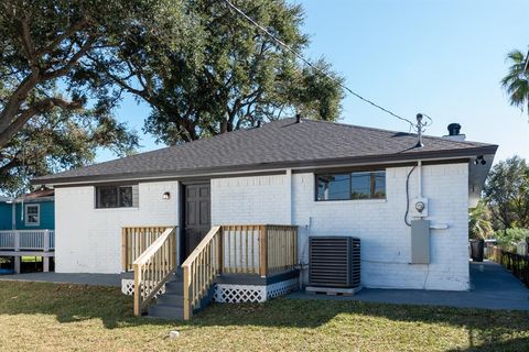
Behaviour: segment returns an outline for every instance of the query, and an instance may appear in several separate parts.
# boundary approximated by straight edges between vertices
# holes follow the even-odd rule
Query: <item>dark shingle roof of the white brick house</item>
[[[284,119],[191,143],[39,177],[34,184],[75,183],[219,170],[295,167],[323,162],[406,161],[417,157],[469,156],[496,151],[493,144],[424,136],[357,125]]]

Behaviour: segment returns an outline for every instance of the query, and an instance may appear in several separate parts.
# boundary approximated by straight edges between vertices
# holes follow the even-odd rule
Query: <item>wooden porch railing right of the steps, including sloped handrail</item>
[[[184,319],[206,295],[215,276],[292,270],[298,264],[298,227],[242,224],[214,227],[182,264]]]

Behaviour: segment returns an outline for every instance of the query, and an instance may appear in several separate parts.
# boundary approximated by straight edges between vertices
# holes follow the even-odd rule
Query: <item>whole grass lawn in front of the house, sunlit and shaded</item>
[[[0,280],[0,297],[2,351],[529,351],[527,312],[276,299],[179,323],[133,317],[118,288]]]

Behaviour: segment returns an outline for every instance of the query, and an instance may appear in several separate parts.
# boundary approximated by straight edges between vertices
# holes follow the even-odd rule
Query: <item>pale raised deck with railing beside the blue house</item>
[[[0,256],[14,257],[14,271],[20,273],[22,256],[42,256],[43,271],[50,271],[50,257],[55,256],[54,230],[2,230]]]

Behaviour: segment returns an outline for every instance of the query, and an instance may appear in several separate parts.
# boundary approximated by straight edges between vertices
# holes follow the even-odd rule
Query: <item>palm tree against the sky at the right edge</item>
[[[510,105],[520,108],[527,106],[529,113],[529,52],[523,55],[522,52],[514,50],[507,54],[507,59],[511,63],[509,73],[501,79],[501,86],[509,95]]]

